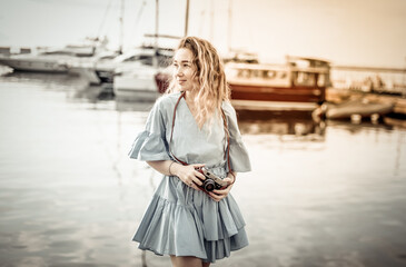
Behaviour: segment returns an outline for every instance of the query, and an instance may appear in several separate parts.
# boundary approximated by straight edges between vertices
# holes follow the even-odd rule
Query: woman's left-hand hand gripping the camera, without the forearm
[[[174,169],[172,174],[176,175],[177,177],[179,177],[179,179],[182,182],[185,182],[187,186],[189,186],[196,190],[200,190],[200,188],[197,186],[201,186],[202,180],[205,180],[206,177],[196,169],[201,168],[204,166],[205,165],[202,165],[202,164],[186,165],[186,166],[175,164],[172,166],[172,169]]]

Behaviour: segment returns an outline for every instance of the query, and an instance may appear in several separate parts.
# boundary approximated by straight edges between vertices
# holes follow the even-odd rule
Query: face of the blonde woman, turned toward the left
[[[181,91],[190,91],[197,83],[194,55],[187,48],[179,49],[174,58],[175,78]]]

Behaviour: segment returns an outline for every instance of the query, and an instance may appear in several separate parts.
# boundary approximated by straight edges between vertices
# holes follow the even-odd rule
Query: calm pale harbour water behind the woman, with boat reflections
[[[151,103],[99,92],[0,78],[0,266],[169,266],[131,241],[160,179],[127,157]],[[405,129],[239,116],[254,170],[232,192],[250,246],[217,266],[406,265]]]

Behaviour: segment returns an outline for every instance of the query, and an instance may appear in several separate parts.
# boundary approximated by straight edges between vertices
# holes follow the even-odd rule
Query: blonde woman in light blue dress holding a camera
[[[157,100],[129,152],[165,175],[132,240],[140,249],[170,255],[176,267],[209,266],[248,245],[229,191],[250,162],[216,49],[186,37],[172,67],[169,93]],[[202,190],[201,167],[227,186]]]

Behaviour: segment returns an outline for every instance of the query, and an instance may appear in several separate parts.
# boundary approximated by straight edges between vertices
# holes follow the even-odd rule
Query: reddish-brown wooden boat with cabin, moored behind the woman
[[[313,110],[325,101],[329,62],[287,57],[285,65],[227,63],[231,99],[239,109]]]

